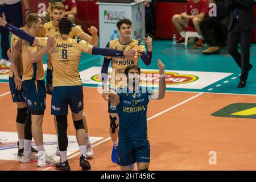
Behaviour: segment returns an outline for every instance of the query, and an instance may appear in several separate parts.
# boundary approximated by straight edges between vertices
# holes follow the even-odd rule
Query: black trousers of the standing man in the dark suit
[[[250,64],[250,40],[252,30],[242,30],[238,21],[234,20],[232,28],[228,32],[228,52],[241,68],[240,80],[246,81]],[[238,43],[241,45],[241,53],[237,50]]]

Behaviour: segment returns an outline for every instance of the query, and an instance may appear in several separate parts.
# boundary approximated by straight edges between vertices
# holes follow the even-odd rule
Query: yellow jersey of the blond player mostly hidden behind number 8
[[[75,36],[80,36],[82,34],[82,29],[76,24],[72,24],[71,32],[69,33],[69,38],[75,38]],[[59,38],[59,27],[55,26],[52,22],[45,23],[42,31],[40,32],[40,37],[49,37],[55,36],[55,38]],[[52,69],[51,59],[48,56],[48,64],[47,69]]]

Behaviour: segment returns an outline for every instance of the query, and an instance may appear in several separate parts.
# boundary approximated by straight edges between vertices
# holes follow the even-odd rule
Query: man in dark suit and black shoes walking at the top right
[[[246,86],[248,73],[253,65],[250,64],[251,32],[255,25],[253,15],[253,0],[225,0],[225,6],[232,6],[228,26],[228,52],[241,68],[238,88]],[[241,53],[238,52],[241,44]]]

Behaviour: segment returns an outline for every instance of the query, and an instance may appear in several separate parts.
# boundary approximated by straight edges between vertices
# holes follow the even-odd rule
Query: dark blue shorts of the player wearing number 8
[[[84,109],[82,85],[55,86],[52,90],[52,115],[68,114],[68,105],[73,113]]]

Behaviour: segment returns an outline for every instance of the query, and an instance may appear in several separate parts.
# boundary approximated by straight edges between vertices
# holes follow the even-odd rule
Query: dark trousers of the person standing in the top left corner
[[[0,5],[0,16],[2,17],[2,13],[5,13],[6,22],[13,24],[15,27],[23,26],[23,18],[22,18],[22,3],[18,2],[13,5]],[[1,49],[2,49],[2,58],[9,60],[7,56],[7,51],[10,48],[9,43],[9,31],[5,29],[5,27],[0,26],[1,33]]]

